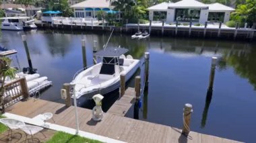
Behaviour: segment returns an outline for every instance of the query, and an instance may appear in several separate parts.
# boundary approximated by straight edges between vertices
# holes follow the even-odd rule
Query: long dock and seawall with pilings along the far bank
[[[255,40],[256,30],[251,28],[228,28],[222,26],[220,23],[206,23],[204,26],[192,26],[191,24],[168,24],[164,22],[150,22],[146,24],[141,23],[127,23],[122,27],[116,26],[100,26],[92,23],[75,23],[62,22],[62,23],[42,23],[36,22],[38,28],[54,29],[54,30],[79,30],[79,31],[112,31],[124,34],[134,34],[138,30],[148,30],[151,35],[157,36],[181,36],[181,37],[200,37],[200,38],[224,38],[230,40]]]

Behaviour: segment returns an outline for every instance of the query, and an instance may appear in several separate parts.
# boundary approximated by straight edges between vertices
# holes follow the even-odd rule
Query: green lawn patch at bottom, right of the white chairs
[[[98,140],[90,140],[77,135],[67,134],[65,132],[56,132],[53,138],[46,143],[101,143]]]

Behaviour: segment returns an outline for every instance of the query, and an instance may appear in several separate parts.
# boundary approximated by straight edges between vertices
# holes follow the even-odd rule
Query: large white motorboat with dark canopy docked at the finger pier
[[[125,75],[128,81],[139,67],[139,60],[131,55],[127,58],[123,54],[128,52],[125,48],[105,48],[96,52],[102,62],[75,74],[75,96],[92,98],[98,93],[104,95],[120,87],[120,75]]]

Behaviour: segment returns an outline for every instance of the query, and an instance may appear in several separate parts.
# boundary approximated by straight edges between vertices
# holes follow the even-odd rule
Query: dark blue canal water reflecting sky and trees
[[[41,76],[53,81],[53,87],[40,98],[60,103],[63,103],[60,95],[63,83],[69,83],[82,68],[81,40],[86,40],[86,56],[91,65],[94,40],[99,50],[109,36],[98,32],[2,31],[1,46],[18,50],[18,55],[12,56],[13,65],[21,68],[28,66],[22,34],[27,36],[33,66]],[[150,52],[150,83],[141,97],[139,120],[182,128],[183,106],[191,103],[191,130],[243,142],[254,141],[255,43],[172,37],[132,40],[130,36],[114,34],[107,47],[119,45],[128,48],[134,58]],[[219,60],[214,91],[207,97],[212,56]],[[139,70],[136,74],[139,75]],[[129,83],[133,85],[134,79]],[[104,111],[118,96],[117,91],[105,97]],[[84,107],[92,108],[93,102],[88,101]],[[127,117],[133,117],[133,107]]]

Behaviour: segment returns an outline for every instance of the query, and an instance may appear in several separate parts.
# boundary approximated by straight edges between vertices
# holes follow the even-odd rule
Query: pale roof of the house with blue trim
[[[86,0],[82,1],[81,3],[76,3],[71,7],[74,8],[84,8],[84,7],[110,7],[110,0]]]

